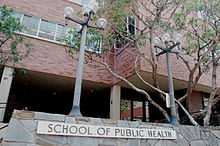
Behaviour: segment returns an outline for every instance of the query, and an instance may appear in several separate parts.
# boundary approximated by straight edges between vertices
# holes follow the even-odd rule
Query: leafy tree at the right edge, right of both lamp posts
[[[189,70],[189,82],[187,92],[180,100],[188,99],[204,72],[212,70],[212,89],[208,107],[199,113],[204,118],[204,126],[210,124],[212,106],[219,101],[218,96],[216,97],[216,93],[219,90],[216,83],[216,72],[220,59],[219,8],[219,0],[195,0],[184,3],[181,11],[176,13],[176,27],[183,30],[182,33],[185,34],[185,39],[187,40],[187,45],[185,45],[187,55],[196,60],[191,67],[189,62],[181,57]]]

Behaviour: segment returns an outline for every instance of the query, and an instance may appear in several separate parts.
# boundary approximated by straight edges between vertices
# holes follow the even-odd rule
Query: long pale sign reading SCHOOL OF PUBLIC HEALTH
[[[126,128],[38,121],[37,134],[103,138],[176,139],[170,128]]]

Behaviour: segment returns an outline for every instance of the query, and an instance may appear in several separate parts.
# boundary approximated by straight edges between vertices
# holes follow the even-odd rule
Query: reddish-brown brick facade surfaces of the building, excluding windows
[[[1,0],[1,5],[6,4],[16,11],[21,11],[33,16],[44,18],[50,21],[64,24],[63,9],[66,6],[74,7],[79,10],[79,5],[76,5],[69,0]],[[46,72],[67,77],[74,77],[76,69],[76,60],[72,59],[65,51],[65,47],[54,43],[30,39],[33,44],[33,50],[30,56],[22,61],[23,67],[33,71]],[[134,71],[135,53],[132,54],[132,48],[128,51],[118,51],[117,55],[111,55],[105,59],[115,64],[116,71],[126,77],[132,76]],[[147,49],[144,51],[149,55]],[[77,53],[75,54],[75,57]],[[110,60],[109,60],[110,59]],[[188,72],[181,60],[172,56],[173,76],[176,80],[187,81]],[[150,64],[146,61],[141,61],[141,70],[151,72]],[[167,76],[165,55],[159,59],[158,74]],[[85,65],[84,79],[99,83],[115,84],[118,80],[113,81],[113,77],[99,64],[92,63]],[[202,76],[200,83],[205,86],[210,86],[210,75]]]

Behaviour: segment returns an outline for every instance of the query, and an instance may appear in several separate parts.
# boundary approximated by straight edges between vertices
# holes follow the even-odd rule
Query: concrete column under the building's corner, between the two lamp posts
[[[110,119],[120,120],[120,98],[121,98],[121,87],[115,85],[111,88],[110,97]]]

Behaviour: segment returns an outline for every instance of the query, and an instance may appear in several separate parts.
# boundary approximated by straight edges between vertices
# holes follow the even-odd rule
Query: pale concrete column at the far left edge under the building
[[[4,119],[5,109],[13,79],[13,72],[13,68],[5,67],[2,74],[0,83],[0,122],[2,122]]]

